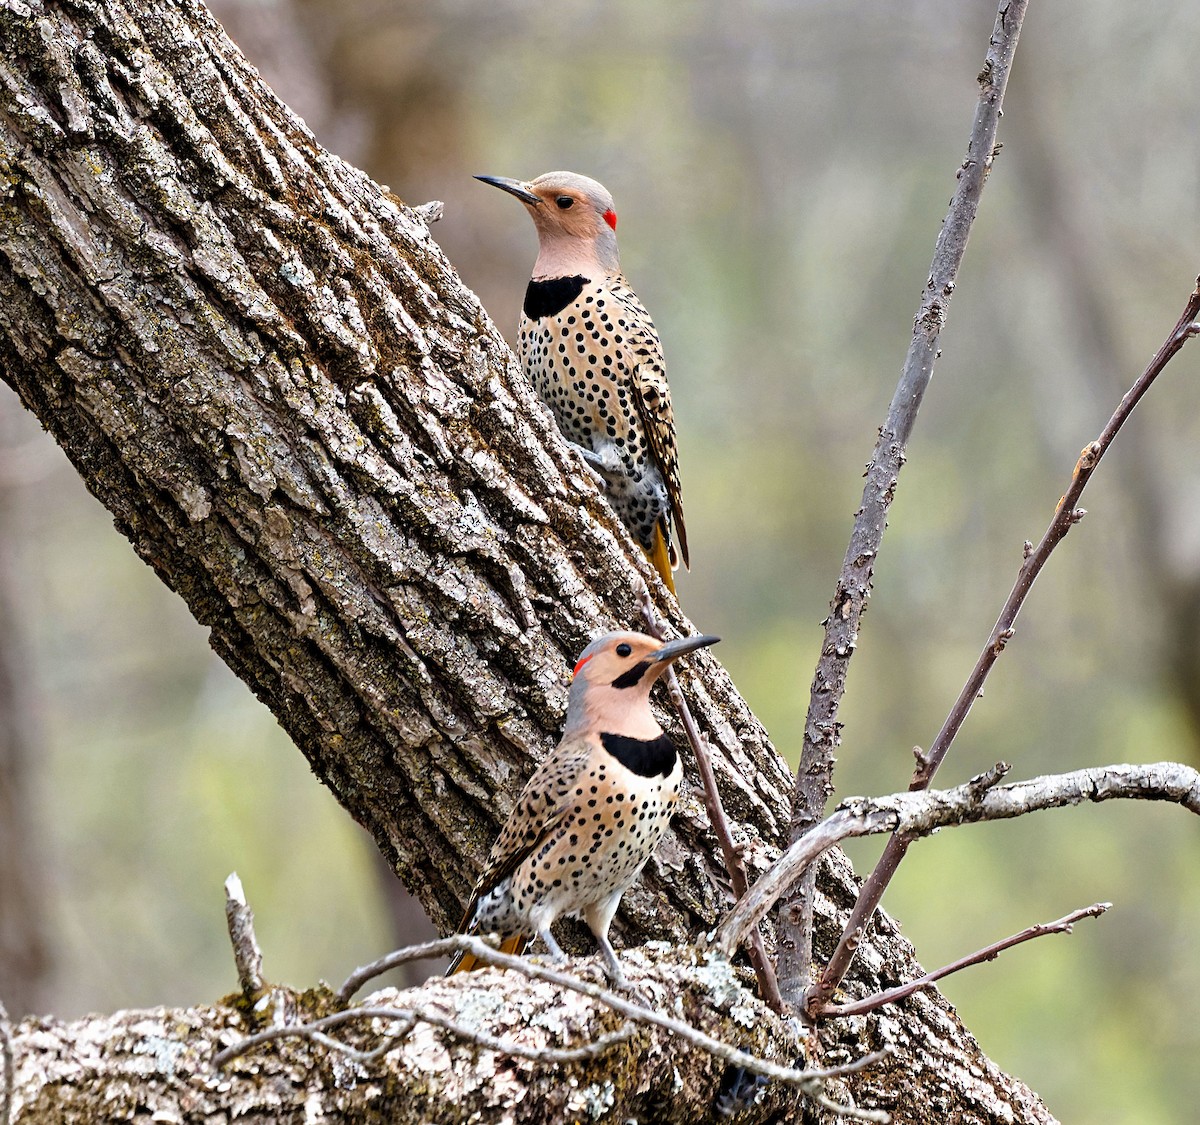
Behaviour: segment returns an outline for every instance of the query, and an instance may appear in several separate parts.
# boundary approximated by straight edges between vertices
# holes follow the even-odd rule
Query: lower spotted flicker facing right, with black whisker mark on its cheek
[[[608,633],[583,650],[562,741],[517,798],[461,932],[499,933],[500,947],[517,953],[538,936],[562,959],[550,927],[582,915],[608,976],[624,982],[608,925],[666,831],[683,776],[674,744],[650,711],[650,688],[672,661],[719,639]],[[446,975],[474,965],[460,955]]]

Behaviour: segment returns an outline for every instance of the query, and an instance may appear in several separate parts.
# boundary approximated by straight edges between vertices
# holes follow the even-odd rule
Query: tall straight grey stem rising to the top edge
[[[905,445],[934,374],[934,363],[940,354],[938,339],[966,252],[967,236],[988,173],[998,151],[996,131],[1026,2],[1027,0],[1000,2],[986,60],[979,74],[979,101],[966,160],[959,169],[954,197],[934,247],[929,279],[913,324],[904,371],[866,468],[863,503],[854,517],[830,613],[826,619],[821,657],[812,678],[800,764],[792,798],[790,844],[821,819],[833,792],[834,751],[840,741],[838,711],[846,691],[850,658],[858,642],[859,620],[870,596],[875,559],[904,465]],[[781,987],[785,998],[793,1004],[800,1000],[809,983],[812,898],[814,883],[809,879],[800,885],[791,902],[782,904],[779,915],[776,932]]]

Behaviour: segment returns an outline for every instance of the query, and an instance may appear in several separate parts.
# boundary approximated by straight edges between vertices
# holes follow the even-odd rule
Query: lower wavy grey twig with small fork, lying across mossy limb
[[[341,1040],[320,1034],[329,1028],[338,1027],[340,1024],[349,1023],[356,1019],[390,1019],[398,1023],[403,1030],[389,1033],[385,1036],[385,1042],[382,1045],[382,1049],[376,1048],[373,1051],[359,1051],[355,1047],[350,1047],[348,1043],[343,1043]],[[474,1043],[476,1047],[482,1047],[485,1051],[498,1051],[500,1054],[508,1054],[517,1059],[529,1059],[533,1063],[580,1063],[586,1059],[599,1058],[606,1051],[611,1051],[613,1047],[629,1040],[634,1031],[637,1030],[634,1024],[626,1024],[616,1031],[606,1031],[592,1042],[583,1043],[580,1047],[529,1047],[524,1043],[518,1043],[515,1040],[500,1039],[497,1035],[490,1035],[487,1031],[479,1031],[475,1028],[469,1028],[466,1024],[458,1023],[456,1019],[451,1019],[449,1016],[443,1016],[440,1012],[432,1011],[431,1009],[352,1007],[344,1012],[334,1012],[331,1016],[313,1019],[312,1023],[298,1023],[292,1027],[270,1028],[266,1031],[248,1035],[241,1042],[234,1043],[232,1047],[226,1047],[224,1051],[212,1059],[212,1065],[218,1067],[224,1066],[226,1063],[238,1058],[239,1055],[246,1054],[248,1051],[253,1051],[254,1047],[258,1047],[262,1043],[289,1036],[313,1039],[325,1047],[330,1047],[334,1051],[338,1051],[352,1057],[355,1061],[362,1063],[378,1058],[386,1049],[390,1049],[391,1045],[407,1035],[416,1023],[428,1023],[432,1027],[440,1028],[443,1031],[449,1031],[457,1039],[468,1043]]]

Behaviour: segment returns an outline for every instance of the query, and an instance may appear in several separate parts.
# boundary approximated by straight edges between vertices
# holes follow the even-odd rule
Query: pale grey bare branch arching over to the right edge
[[[725,918],[713,944],[732,956],[750,927],[774,906],[812,861],[852,836],[893,832],[904,840],[940,828],[1004,820],[1085,801],[1171,801],[1200,816],[1200,774],[1177,762],[1108,765],[996,784],[1007,765],[994,766],[953,789],[923,789],[882,798],[850,798],[788,848]],[[811,837],[811,842],[809,842]]]

